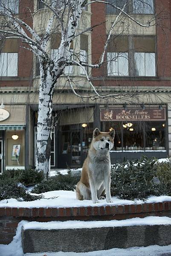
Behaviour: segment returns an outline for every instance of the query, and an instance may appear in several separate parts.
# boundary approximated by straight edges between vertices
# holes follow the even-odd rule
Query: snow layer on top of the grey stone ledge
[[[136,226],[136,225],[171,225],[171,218],[148,216],[145,218],[131,218],[126,220],[111,220],[111,221],[49,221],[38,222],[31,221],[23,224],[24,230],[53,230],[53,229],[73,229],[73,228],[94,228],[94,227],[121,227],[121,226]]]

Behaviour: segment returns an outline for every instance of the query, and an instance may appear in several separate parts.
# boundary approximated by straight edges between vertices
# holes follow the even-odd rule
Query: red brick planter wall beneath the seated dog
[[[28,221],[123,220],[146,216],[171,216],[171,202],[66,208],[0,208],[0,244],[9,244],[18,223]]]

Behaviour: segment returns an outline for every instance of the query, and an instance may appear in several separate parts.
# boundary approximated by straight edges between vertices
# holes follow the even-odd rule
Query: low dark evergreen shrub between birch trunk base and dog
[[[32,189],[32,193],[43,193],[54,190],[74,190],[75,185],[80,180],[78,176],[72,176],[71,171],[68,171],[67,175],[63,175],[58,172],[53,178],[49,178],[48,180],[42,180],[41,183],[35,186]]]

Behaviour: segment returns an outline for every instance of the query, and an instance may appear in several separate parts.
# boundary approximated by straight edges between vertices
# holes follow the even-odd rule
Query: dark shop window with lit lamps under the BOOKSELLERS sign
[[[102,131],[115,129],[113,151],[165,150],[165,122],[102,122]]]

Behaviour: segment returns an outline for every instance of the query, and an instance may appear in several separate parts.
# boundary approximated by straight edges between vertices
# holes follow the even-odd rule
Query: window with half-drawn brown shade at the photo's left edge
[[[17,38],[7,38],[3,42],[0,53],[0,76],[17,76],[18,50]]]

